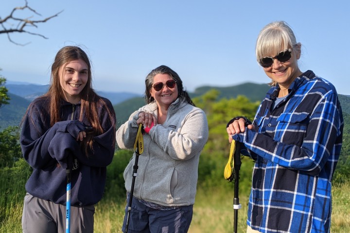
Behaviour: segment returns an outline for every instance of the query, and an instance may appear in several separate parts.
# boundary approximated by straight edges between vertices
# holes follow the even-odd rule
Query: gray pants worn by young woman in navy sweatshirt
[[[93,233],[93,205],[70,207],[70,232]],[[35,198],[29,193],[24,197],[22,215],[23,233],[66,232],[66,206]]]

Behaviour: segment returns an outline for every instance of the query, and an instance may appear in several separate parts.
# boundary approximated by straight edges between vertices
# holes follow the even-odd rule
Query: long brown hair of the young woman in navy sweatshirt
[[[60,49],[54,59],[53,65],[51,67],[51,86],[49,91],[43,95],[43,97],[48,98],[49,103],[49,114],[50,114],[50,126],[53,126],[56,122],[61,121],[60,117],[60,107],[63,100],[63,90],[60,85],[60,68],[66,66],[71,61],[81,59],[88,65],[88,81],[84,89],[80,93],[81,98],[81,109],[79,120],[83,121],[84,117],[87,118],[90,126],[93,127],[93,132],[88,133],[84,142],[85,152],[87,152],[87,147],[92,149],[92,137],[93,135],[99,135],[104,133],[103,128],[100,123],[100,116],[98,110],[104,107],[107,111],[111,124],[115,127],[115,113],[110,111],[106,102],[95,93],[92,88],[91,82],[91,64],[88,55],[79,47],[76,46],[66,46]],[[115,129],[114,129],[115,132]],[[115,145],[115,140],[113,140],[113,146]],[[86,153],[87,154],[87,153]],[[87,154],[88,155],[88,154]]]

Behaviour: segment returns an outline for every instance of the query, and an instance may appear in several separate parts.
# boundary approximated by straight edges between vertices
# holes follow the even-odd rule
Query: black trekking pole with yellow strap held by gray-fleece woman
[[[137,177],[137,170],[139,168],[138,163],[139,163],[139,155],[143,153],[143,136],[142,136],[142,124],[139,125],[139,130],[136,135],[136,140],[134,144],[134,151],[135,151],[135,164],[133,167],[133,179],[131,183],[131,190],[130,190],[130,196],[129,196],[129,206],[128,206],[128,213],[126,217],[126,230],[125,233],[128,232],[129,228],[129,218],[130,218],[130,211],[131,211],[131,203],[134,195],[134,187],[135,187],[135,179]]]

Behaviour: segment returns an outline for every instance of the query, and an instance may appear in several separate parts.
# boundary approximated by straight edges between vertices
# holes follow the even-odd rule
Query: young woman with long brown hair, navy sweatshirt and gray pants
[[[111,102],[91,87],[87,54],[75,46],[59,50],[49,91],[29,105],[22,122],[23,157],[34,169],[25,185],[24,233],[65,231],[67,167],[71,232],[93,232],[94,204],[114,154],[115,121]]]

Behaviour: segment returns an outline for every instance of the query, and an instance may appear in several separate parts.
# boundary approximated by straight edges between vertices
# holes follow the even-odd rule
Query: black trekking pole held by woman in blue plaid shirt
[[[234,161],[234,198],[233,198],[233,209],[234,209],[234,229],[233,232],[237,233],[238,226],[238,210],[241,209],[242,205],[239,203],[238,191],[239,191],[239,170],[241,169],[241,143],[237,141],[232,141],[236,143],[236,150],[234,152],[233,161]]]

